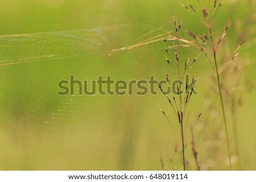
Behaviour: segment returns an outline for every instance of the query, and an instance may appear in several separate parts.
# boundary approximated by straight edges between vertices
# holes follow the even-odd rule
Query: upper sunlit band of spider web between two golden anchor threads
[[[0,66],[56,58],[99,56],[154,43],[170,32],[149,24],[0,36]]]

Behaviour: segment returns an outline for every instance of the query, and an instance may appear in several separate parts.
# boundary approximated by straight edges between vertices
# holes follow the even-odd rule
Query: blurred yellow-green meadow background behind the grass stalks
[[[213,2],[206,2],[211,9]],[[183,170],[179,122],[159,90],[143,96],[57,95],[58,82],[70,75],[81,81],[100,75],[114,81],[151,75],[162,80],[166,68],[172,78],[160,39],[174,34],[173,17],[182,20],[186,40],[193,40],[187,29],[207,33],[181,3],[188,6],[185,0],[2,1],[0,170]],[[196,0],[189,3],[203,14]],[[225,0],[213,25],[213,35],[221,35],[231,22],[217,60],[233,170],[256,170],[255,8],[254,1]],[[142,41],[147,44],[112,52]],[[181,48],[180,60],[199,53],[192,46]],[[198,95],[189,103],[184,131],[187,170],[197,170],[189,128],[203,109],[193,128],[200,168],[229,170],[215,72],[203,54],[195,72]]]

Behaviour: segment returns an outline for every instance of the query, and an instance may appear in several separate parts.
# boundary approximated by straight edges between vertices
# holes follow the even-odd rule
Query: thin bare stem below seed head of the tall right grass
[[[229,166],[230,166],[230,170],[232,170],[231,155],[230,155],[230,146],[229,146],[229,136],[228,136],[228,128],[227,128],[227,124],[226,124],[226,115],[225,115],[225,109],[224,109],[224,102],[223,102],[223,98],[222,98],[220,77],[219,77],[219,74],[218,74],[218,65],[217,65],[216,52],[215,52],[215,51],[214,51],[214,53],[213,53],[213,57],[214,57],[214,63],[215,63],[217,81],[218,81],[218,90],[220,91],[221,107],[222,107],[222,114],[223,114],[223,118],[224,118],[225,133],[226,133],[226,142],[227,142],[227,144],[228,144]]]

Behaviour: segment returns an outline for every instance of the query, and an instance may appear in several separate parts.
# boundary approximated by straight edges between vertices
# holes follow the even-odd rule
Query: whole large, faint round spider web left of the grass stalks
[[[102,149],[102,142],[115,141],[122,132],[112,131],[111,137],[104,139],[104,128],[109,127],[110,121],[123,120],[123,117],[115,118],[123,109],[144,104],[138,103],[136,96],[128,95],[60,96],[57,83],[68,80],[70,75],[80,81],[92,81],[99,75],[129,81],[152,74],[148,70],[154,70],[159,53],[163,56],[161,44],[170,35],[168,27],[170,22],[161,27],[135,23],[0,36],[0,130],[1,137],[11,137],[7,141],[12,143],[6,144],[9,147],[3,153],[18,147],[22,158],[38,157],[36,151],[40,147],[36,143],[48,143],[47,146],[56,147],[51,152],[64,147],[65,153],[80,157],[82,154],[72,146],[80,146],[81,137],[86,137],[86,145],[111,150],[111,145]],[[92,143],[88,136],[99,142]],[[79,145],[69,137],[77,137]],[[58,146],[56,141],[62,140],[64,146]],[[40,159],[51,160],[49,155]],[[28,166],[32,165],[31,160],[26,161]]]

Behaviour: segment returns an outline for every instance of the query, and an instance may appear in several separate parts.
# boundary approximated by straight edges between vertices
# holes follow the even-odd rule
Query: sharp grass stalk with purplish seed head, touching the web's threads
[[[174,110],[175,115],[179,121],[180,134],[181,134],[181,146],[182,146],[183,170],[185,171],[186,170],[186,165],[185,165],[186,162],[185,162],[185,137],[184,137],[183,121],[185,118],[189,100],[191,98],[191,95],[193,94],[193,89],[194,89],[194,86],[196,83],[195,74],[193,75],[191,83],[187,76],[188,76],[188,71],[191,70],[191,68],[195,64],[198,56],[191,63],[189,63],[189,58],[190,58],[189,56],[186,58],[186,60],[184,62],[181,61],[180,48],[182,47],[181,43],[183,43],[183,41],[182,41],[183,39],[179,38],[181,23],[178,26],[176,18],[174,18],[174,27],[175,27],[175,31],[176,31],[176,37],[175,36],[172,36],[172,37],[175,38],[174,40],[176,40],[176,45],[174,43],[174,46],[171,46],[170,44],[168,44],[168,42],[166,40],[164,40],[164,44],[167,45],[167,48],[169,48],[170,50],[173,50],[174,56],[171,56],[171,54],[168,52],[168,49],[166,48],[166,46],[164,46],[164,48],[166,50],[166,61],[168,63],[168,66],[170,66],[171,71],[175,76],[174,79],[176,78],[176,81],[178,81],[178,82],[176,84],[172,85],[171,81],[170,81],[170,77],[168,76],[168,73],[166,70],[164,70],[164,75],[166,77],[166,81],[168,82],[169,86],[170,87],[176,86],[176,90],[175,89],[172,90],[171,95],[168,95],[168,94],[166,94],[166,92],[163,91],[162,86],[158,82],[156,82],[156,83],[158,84],[160,91],[165,96],[168,103],[171,104],[171,107]],[[172,49],[172,48],[174,48],[174,49]],[[173,82],[173,83],[175,83],[175,82]],[[183,83],[185,83],[185,86],[183,86]],[[183,88],[184,88],[185,92],[183,92]],[[167,118],[166,113],[162,109],[160,109],[160,110],[162,111],[163,115]],[[197,118],[197,120],[198,120],[198,118]],[[167,121],[171,125],[170,120],[168,120],[168,118],[167,118]]]

